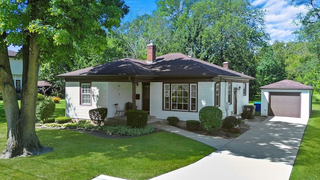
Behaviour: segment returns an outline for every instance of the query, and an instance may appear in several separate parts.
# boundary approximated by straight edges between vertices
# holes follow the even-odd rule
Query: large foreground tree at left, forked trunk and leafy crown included
[[[1,155],[27,155],[43,147],[35,133],[38,70],[41,61],[66,61],[76,44],[83,51],[103,51],[106,29],[128,12],[123,0],[2,0],[0,3],[0,91],[7,121]],[[21,107],[15,94],[7,44],[22,45]],[[89,49],[90,48],[90,49]]]

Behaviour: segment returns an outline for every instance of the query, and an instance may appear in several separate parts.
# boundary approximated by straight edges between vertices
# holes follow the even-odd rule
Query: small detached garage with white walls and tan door
[[[309,118],[312,87],[281,80],[261,88],[261,115]]]

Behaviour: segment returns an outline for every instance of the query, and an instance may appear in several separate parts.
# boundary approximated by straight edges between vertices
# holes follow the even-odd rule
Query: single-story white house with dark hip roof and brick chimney
[[[159,119],[177,116],[198,120],[199,110],[219,107],[223,116],[242,113],[249,102],[251,76],[189,57],[181,53],[155,56],[155,45],[147,45],[147,60],[123,58],[58,75],[65,80],[65,115],[89,119],[89,109],[107,107],[115,114],[115,103],[146,110]]]

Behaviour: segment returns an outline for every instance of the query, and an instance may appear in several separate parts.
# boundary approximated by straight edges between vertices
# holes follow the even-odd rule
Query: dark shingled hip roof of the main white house
[[[202,76],[222,75],[254,79],[251,76],[205,62],[182,53],[169,53],[156,57],[153,62],[123,58],[101,65],[87,67],[57,75],[59,77],[82,75],[146,75],[146,76]]]

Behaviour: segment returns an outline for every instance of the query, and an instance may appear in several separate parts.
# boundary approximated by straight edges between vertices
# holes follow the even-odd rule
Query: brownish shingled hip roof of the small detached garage
[[[301,84],[299,82],[295,82],[293,80],[280,80],[268,85],[264,85],[260,87],[261,89],[313,89],[308,85]]]

